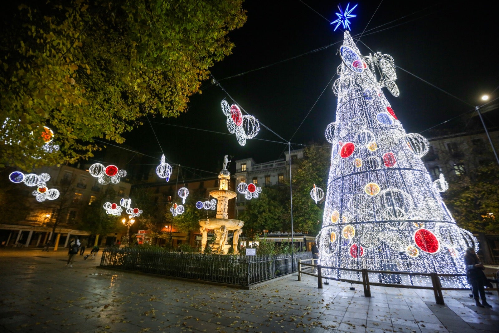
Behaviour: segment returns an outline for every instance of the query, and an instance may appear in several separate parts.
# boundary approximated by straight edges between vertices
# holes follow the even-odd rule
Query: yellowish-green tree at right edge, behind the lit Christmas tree
[[[499,232],[498,174],[494,163],[449,179],[443,196],[460,227],[472,232]]]

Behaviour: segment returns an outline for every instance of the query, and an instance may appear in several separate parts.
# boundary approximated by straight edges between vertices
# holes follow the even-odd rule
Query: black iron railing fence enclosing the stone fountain
[[[271,255],[168,252],[141,247],[106,247],[100,266],[241,286],[250,286],[298,270],[311,252]],[[294,261],[294,262],[292,262]]]

